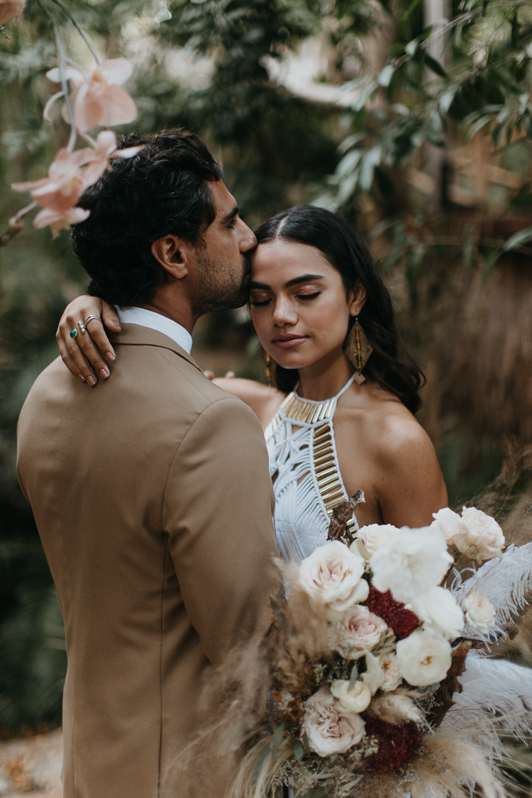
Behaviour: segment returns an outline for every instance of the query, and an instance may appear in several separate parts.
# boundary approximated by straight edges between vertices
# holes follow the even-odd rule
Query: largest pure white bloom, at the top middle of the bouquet
[[[451,563],[443,532],[435,527],[403,527],[369,561],[373,586],[381,593],[391,590],[405,604],[438,585]]]

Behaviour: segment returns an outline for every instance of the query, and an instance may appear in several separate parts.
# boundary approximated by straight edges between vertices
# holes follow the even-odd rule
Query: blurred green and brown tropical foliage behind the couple
[[[499,494],[508,506],[526,496],[532,2],[64,2],[102,56],[135,64],[126,88],[139,116],[127,129],[198,132],[250,225],[314,202],[358,227],[427,374],[420,421],[451,504],[482,491],[509,453]],[[46,11],[70,57],[89,60],[60,5],[28,0],[0,38],[0,235],[24,202],[10,182],[45,176],[68,136],[59,118],[42,120],[55,91],[45,72],[57,65]],[[15,428],[34,378],[56,357],[61,311],[84,283],[65,233],[52,239],[26,222],[0,248],[4,734],[60,722],[61,615],[18,488]],[[206,318],[195,346],[206,367],[262,373],[245,313]]]

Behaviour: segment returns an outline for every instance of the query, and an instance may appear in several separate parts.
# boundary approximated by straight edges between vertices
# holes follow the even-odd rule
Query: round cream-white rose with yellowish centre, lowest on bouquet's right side
[[[409,685],[433,685],[442,681],[451,667],[451,644],[427,630],[412,632],[397,643],[397,665]]]

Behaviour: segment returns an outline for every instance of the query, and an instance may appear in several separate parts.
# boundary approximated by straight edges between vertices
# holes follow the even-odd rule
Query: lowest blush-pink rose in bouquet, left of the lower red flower
[[[345,753],[357,745],[364,734],[364,721],[355,713],[343,713],[328,689],[321,688],[305,701],[301,731],[306,733],[310,749],[319,757]]]

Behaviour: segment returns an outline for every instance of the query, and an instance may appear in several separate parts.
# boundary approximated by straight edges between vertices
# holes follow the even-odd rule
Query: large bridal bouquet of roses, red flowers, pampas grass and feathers
[[[530,733],[532,672],[485,654],[526,605],[532,544],[503,554],[501,527],[475,508],[351,534],[353,499],[335,539],[284,567],[231,796],[506,795],[500,734]]]

